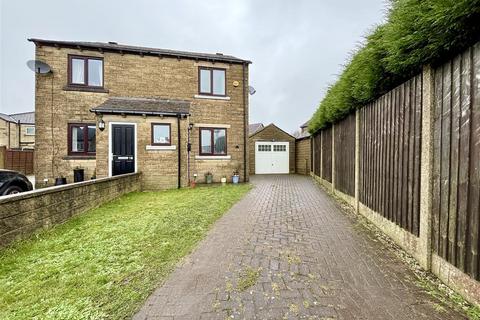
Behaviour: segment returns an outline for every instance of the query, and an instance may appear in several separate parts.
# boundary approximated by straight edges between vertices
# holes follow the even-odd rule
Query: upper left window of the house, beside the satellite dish
[[[103,87],[103,58],[68,56],[68,84]]]

